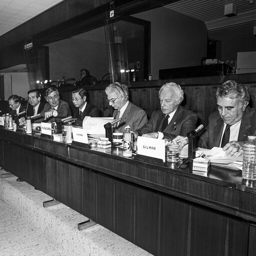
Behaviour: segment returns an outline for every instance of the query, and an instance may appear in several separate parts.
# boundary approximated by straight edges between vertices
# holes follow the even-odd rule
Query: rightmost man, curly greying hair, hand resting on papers
[[[223,147],[226,155],[243,153],[242,145],[248,135],[256,135],[256,109],[248,107],[249,93],[244,84],[228,80],[216,92],[218,110],[209,116],[209,124],[200,135],[198,146],[211,149]],[[173,139],[183,138],[177,136]],[[187,140],[180,142],[181,147]]]

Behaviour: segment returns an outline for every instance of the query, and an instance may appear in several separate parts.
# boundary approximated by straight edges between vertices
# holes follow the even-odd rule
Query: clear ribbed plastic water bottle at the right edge
[[[242,178],[256,180],[256,136],[248,136],[243,145]]]

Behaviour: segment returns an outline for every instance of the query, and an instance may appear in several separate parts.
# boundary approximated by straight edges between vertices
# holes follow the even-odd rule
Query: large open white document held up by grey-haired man
[[[105,134],[104,124],[112,122],[113,117],[90,117],[85,116],[82,121],[82,128],[87,134]]]

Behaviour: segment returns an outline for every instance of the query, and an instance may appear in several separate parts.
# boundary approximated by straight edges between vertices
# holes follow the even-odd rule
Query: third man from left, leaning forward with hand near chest
[[[71,115],[71,110],[67,102],[59,99],[59,92],[57,89],[50,87],[46,89],[44,97],[47,103],[41,111],[41,117],[36,119],[35,122],[47,120],[50,122],[60,123],[62,118]]]

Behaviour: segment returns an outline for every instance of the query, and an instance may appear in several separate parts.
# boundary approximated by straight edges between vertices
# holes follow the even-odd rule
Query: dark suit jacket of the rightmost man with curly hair
[[[200,135],[198,146],[211,149],[220,144],[224,121],[218,111],[211,113],[208,120],[209,124]],[[237,141],[247,140],[248,135],[256,135],[256,109],[247,106],[241,119]]]

